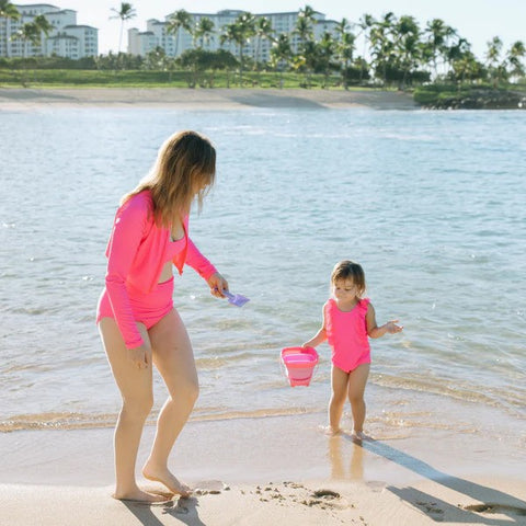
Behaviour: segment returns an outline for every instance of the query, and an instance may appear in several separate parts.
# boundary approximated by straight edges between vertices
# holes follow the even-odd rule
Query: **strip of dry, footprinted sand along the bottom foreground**
[[[315,483],[283,482],[222,489],[208,483],[191,499],[155,506],[108,499],[106,488],[1,485],[0,517],[10,526],[526,524],[521,507],[524,501],[517,496],[524,485],[521,489],[516,483],[505,485],[495,480],[471,484],[483,488],[495,482],[505,495],[499,503],[479,503],[461,489],[444,489],[432,482],[411,488],[347,482],[332,484],[330,490]],[[494,491],[489,491],[488,496],[493,495]]]

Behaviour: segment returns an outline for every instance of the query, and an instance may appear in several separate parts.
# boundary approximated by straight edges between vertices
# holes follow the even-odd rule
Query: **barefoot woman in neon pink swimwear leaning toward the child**
[[[121,202],[107,244],[105,288],[96,321],[123,405],[115,428],[115,499],[155,502],[159,495],[140,490],[135,464],[140,435],[153,403],[152,364],[169,398],[142,474],[187,496],[190,488],[168,468],[168,457],[198,393],[192,345],[173,307],[173,273],[185,264],[225,297],[227,281],[188,237],[192,202],[202,204],[214,183],[216,151],[194,132],[170,137],[150,173]]]

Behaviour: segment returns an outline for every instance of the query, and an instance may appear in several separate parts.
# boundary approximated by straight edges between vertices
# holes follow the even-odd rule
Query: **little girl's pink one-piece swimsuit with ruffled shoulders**
[[[370,364],[370,345],[367,335],[367,307],[369,299],[361,299],[353,310],[343,312],[334,299],[323,306],[325,331],[332,347],[332,363],[345,373],[358,365]]]

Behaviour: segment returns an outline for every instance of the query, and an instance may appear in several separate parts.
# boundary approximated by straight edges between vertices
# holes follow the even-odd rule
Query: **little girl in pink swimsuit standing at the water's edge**
[[[398,320],[378,327],[375,309],[365,293],[365,274],[361,265],[352,261],[336,263],[331,275],[330,298],[323,305],[323,324],[304,347],[316,347],[325,340],[332,347],[332,397],[329,403],[330,434],[340,430],[345,398],[353,412],[353,437],[364,435],[364,391],[369,375],[370,347],[368,338],[381,338],[386,332],[400,332]]]

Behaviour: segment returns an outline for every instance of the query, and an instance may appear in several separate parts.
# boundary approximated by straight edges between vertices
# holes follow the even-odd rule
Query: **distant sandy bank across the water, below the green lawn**
[[[239,110],[253,107],[414,110],[412,95],[395,91],[170,89],[170,88],[0,88],[0,111],[39,106],[165,106],[181,110]]]

